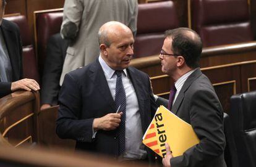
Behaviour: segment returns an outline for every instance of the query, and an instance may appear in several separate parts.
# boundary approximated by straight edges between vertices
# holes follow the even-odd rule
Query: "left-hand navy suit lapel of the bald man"
[[[92,67],[90,68],[90,71],[90,78],[95,84],[95,88],[98,89],[98,91],[100,91],[102,97],[105,98],[106,102],[108,102],[108,104],[111,105],[113,111],[116,110],[114,99],[111,95],[111,92],[108,87],[108,82],[106,81],[106,77],[104,75],[103,69],[98,59],[96,59],[96,62],[93,63]]]

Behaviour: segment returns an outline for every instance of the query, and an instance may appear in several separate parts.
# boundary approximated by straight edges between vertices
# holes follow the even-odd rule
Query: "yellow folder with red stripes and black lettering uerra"
[[[199,139],[189,123],[161,105],[148,126],[142,142],[161,157],[166,155],[164,144],[167,142],[173,157],[177,157],[198,144]]]

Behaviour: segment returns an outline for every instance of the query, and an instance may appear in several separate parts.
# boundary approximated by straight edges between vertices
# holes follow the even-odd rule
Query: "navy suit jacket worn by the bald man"
[[[145,132],[156,111],[148,75],[133,67],[127,68],[139,102],[142,131]],[[98,131],[92,139],[94,118],[114,113],[113,97],[98,59],[65,76],[59,94],[59,115],[56,132],[59,137],[74,139],[76,148],[118,154],[117,131]]]

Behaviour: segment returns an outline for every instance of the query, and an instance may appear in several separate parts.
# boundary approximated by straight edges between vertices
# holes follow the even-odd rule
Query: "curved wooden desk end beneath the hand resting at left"
[[[28,91],[17,91],[0,99],[0,135],[6,142],[14,147],[38,142],[39,101],[39,92]]]

